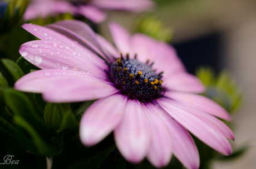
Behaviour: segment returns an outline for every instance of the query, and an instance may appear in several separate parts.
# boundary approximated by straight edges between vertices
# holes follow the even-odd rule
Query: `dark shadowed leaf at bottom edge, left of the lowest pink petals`
[[[106,160],[106,158],[111,154],[111,152],[113,152],[115,149],[116,146],[113,145],[99,153],[94,153],[91,156],[88,156],[87,158],[82,158],[67,168],[99,168],[102,165],[102,163]]]

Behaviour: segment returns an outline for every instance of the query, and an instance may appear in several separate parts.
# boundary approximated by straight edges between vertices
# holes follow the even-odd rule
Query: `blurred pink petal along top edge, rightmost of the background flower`
[[[149,11],[155,6],[155,3],[150,0],[94,0],[90,3],[99,8],[131,12]]]

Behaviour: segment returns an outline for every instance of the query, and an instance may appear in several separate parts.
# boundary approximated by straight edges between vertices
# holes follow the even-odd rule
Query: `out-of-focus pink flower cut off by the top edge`
[[[92,1],[57,1],[32,0],[24,13],[24,20],[35,19],[38,16],[55,16],[58,13],[81,14],[92,22],[100,23],[106,19],[105,11],[121,10],[130,12],[149,11],[155,4],[151,0],[92,0]]]

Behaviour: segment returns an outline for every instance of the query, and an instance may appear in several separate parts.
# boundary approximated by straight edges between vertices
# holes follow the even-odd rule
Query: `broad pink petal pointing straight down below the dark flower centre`
[[[128,100],[124,117],[114,131],[117,148],[126,160],[139,163],[150,144],[149,121],[139,101]]]

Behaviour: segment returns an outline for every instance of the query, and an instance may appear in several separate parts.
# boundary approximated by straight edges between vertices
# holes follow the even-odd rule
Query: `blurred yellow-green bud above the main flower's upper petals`
[[[147,15],[138,19],[137,32],[150,35],[157,40],[163,40],[169,43],[173,38],[174,30],[173,28],[166,27],[166,25],[155,16]]]

